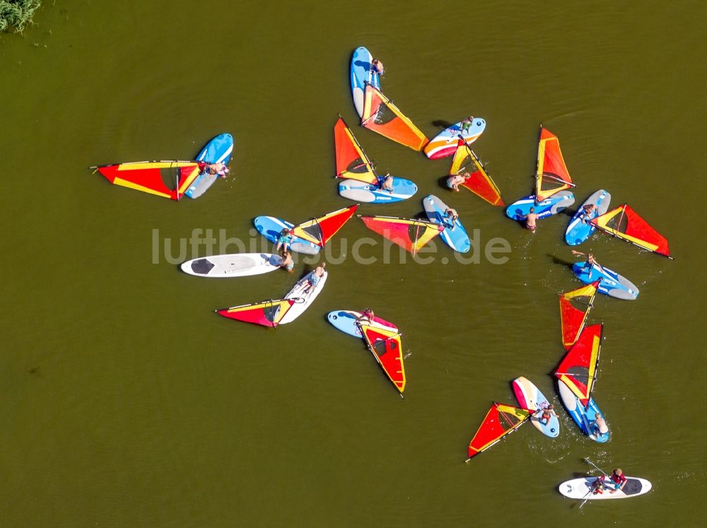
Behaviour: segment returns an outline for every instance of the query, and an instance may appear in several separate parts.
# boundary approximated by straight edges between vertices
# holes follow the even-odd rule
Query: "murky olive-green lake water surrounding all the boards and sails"
[[[44,4],[24,35],[0,36],[1,526],[705,524],[707,4]],[[590,315],[604,322],[594,397],[608,444],[580,433],[551,376],[563,355],[557,294],[579,285],[564,265],[568,217],[530,235],[440,187],[449,159],[358,127],[348,71],[359,45],[428,136],[486,119],[474,151],[507,202],[530,193],[542,121],[578,203],[608,189],[670,240],[674,261],[600,234],[580,247],[641,288],[635,302],[600,295]],[[298,222],[349,205],[332,178],[337,112],[378,170],[419,186],[359,213],[414,216],[438,194],[479,230],[481,251],[506,240],[508,261],[462,264],[438,241],[431,263],[396,250],[386,264],[380,237],[353,218],[296,322],[216,316],[278,298],[312,264],[220,281],[176,263],[209,252],[211,236],[214,253],[235,239],[269,249],[255,216]],[[232,175],[198,200],[88,170],[187,159],[223,131]],[[373,264],[353,257],[363,237],[377,242],[361,249]],[[368,306],[403,333],[404,399],[325,319]],[[519,375],[554,399],[561,435],[526,426],[464,464],[491,401],[515,402]],[[556,486],[591,471],[583,457],[654,489],[579,510]]]

